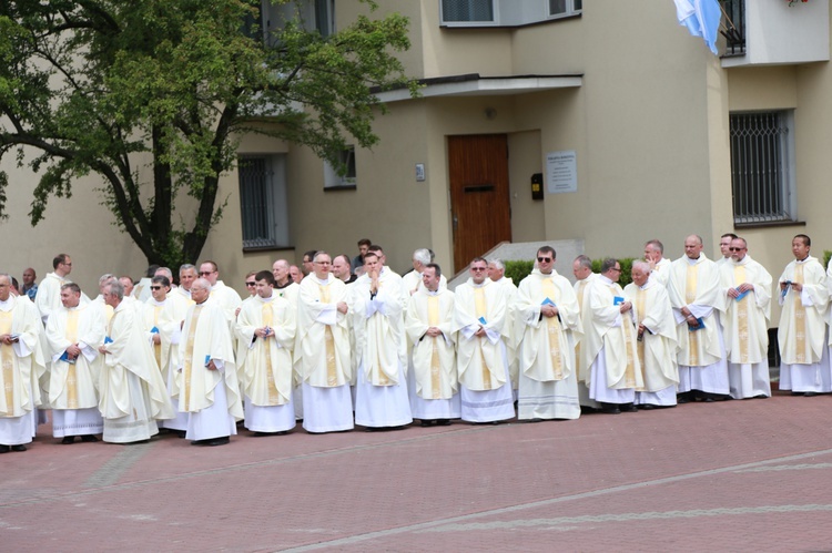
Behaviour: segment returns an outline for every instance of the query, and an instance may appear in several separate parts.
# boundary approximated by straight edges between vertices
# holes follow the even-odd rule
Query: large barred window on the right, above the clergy
[[[730,127],[734,223],[795,221],[793,113],[732,114]]]

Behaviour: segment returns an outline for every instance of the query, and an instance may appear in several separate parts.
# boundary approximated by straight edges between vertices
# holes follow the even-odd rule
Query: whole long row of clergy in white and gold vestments
[[[323,433],[769,397],[772,278],[744,239],[720,245],[712,262],[691,235],[671,263],[650,240],[623,289],[617,259],[595,274],[579,256],[572,285],[548,246],[519,286],[499,259],[475,258],[454,291],[426,249],[403,278],[371,246],[349,283],[317,252],[300,284],[285,260],[250,274],[245,300],[210,260],[180,267],[177,287],[160,268],[135,297],[106,274],[90,300],[61,254],[34,301],[0,274],[0,453],[24,451],[47,409],[62,443],[141,442],[166,428],[219,446],[239,421],[258,436],[298,420]],[[810,247],[794,238],[777,286],[780,388],[806,396],[832,392],[832,268]]]

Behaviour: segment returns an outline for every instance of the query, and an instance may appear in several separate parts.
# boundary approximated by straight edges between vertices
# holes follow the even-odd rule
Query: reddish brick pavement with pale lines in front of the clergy
[[[832,397],[0,457],[7,551],[820,551]]]

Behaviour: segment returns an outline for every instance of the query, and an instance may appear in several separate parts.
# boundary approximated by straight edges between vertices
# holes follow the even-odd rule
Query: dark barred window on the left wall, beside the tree
[[[288,246],[285,155],[245,155],[237,163],[243,248]]]

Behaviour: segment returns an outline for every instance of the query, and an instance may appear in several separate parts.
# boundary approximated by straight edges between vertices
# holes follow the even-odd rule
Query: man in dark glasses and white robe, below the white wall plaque
[[[537,252],[537,268],[517,290],[520,420],[577,419],[575,344],[582,334],[572,285],[555,270],[555,249]]]

